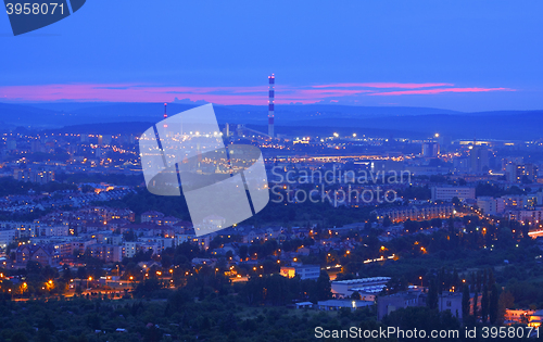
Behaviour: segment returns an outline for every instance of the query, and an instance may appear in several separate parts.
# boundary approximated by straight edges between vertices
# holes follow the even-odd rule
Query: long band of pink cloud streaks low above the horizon
[[[444,92],[515,91],[509,88],[446,88],[449,84],[336,84],[323,86],[276,87],[276,103],[316,103],[320,101],[358,101],[367,96],[439,94]],[[379,91],[367,88],[415,90]],[[426,87],[444,87],[418,89]],[[338,89],[340,88],[340,89]],[[216,104],[266,104],[267,86],[257,87],[178,87],[139,84],[67,84],[0,87],[0,101],[100,101],[100,102],[171,102],[175,98]]]

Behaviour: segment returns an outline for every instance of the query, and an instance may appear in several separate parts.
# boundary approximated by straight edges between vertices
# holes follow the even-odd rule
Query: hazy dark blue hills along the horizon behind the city
[[[194,106],[168,103],[167,110],[174,115]],[[264,127],[267,123],[265,105],[214,105],[214,109],[219,124]],[[162,114],[163,103],[0,103],[0,127],[10,130],[20,126],[29,129],[74,126],[71,128],[77,130],[135,130],[139,134],[144,129],[141,127],[161,121]],[[276,131],[285,134],[338,131],[340,135],[420,138],[440,132],[454,139],[543,138],[539,130],[543,127],[543,111],[463,113],[431,107],[291,104],[276,105],[275,117]]]

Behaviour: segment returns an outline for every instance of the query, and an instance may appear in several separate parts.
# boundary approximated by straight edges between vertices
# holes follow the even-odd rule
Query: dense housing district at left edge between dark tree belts
[[[164,249],[198,240],[190,223],[162,213],[143,213],[141,224],[135,219],[135,213],[126,208],[88,206],[52,212],[31,223],[0,221],[0,248],[5,251],[16,243],[12,267],[25,267],[30,259],[56,266],[76,264],[85,253],[106,263],[139,251],[160,255]],[[210,241],[202,239],[203,246]]]

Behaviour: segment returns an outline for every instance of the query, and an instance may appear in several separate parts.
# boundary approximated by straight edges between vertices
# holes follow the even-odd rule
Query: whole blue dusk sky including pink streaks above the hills
[[[543,109],[542,10],[541,1],[89,0],[17,37],[4,14],[0,101],[265,104],[275,73],[279,103]]]

